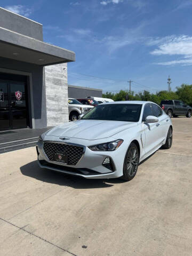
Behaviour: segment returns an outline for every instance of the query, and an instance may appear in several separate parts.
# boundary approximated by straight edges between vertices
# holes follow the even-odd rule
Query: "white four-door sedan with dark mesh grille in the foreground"
[[[37,142],[42,168],[88,179],[131,180],[138,164],[172,145],[171,118],[155,103],[102,103],[81,119],[43,133]]]

